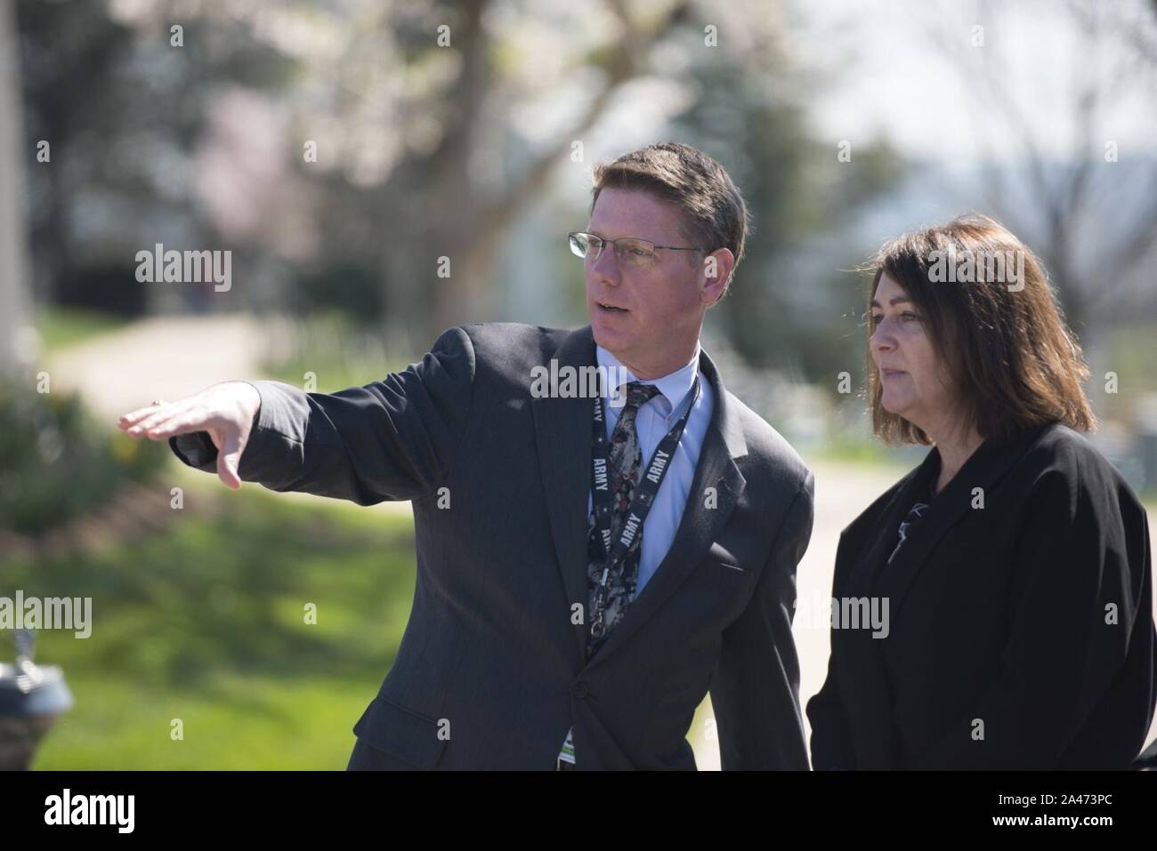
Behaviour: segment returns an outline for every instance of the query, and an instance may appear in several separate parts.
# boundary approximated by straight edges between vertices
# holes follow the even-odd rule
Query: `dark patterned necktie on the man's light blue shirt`
[[[642,384],[631,382],[627,387],[627,401],[619,413],[619,420],[614,423],[614,431],[611,434],[611,445],[607,451],[607,464],[611,478],[611,540],[618,538],[624,521],[627,519],[627,510],[631,508],[631,497],[635,486],[639,484],[642,475],[643,453],[639,446],[639,432],[635,429],[635,417],[639,408],[646,405],[658,394],[658,387],[654,384]],[[603,569],[606,562],[606,549],[595,528],[595,512],[589,517],[590,532],[587,540],[587,579],[590,590],[590,609],[595,610],[595,592],[599,580],[603,578]],[[642,542],[642,530],[631,542],[631,547],[624,554],[622,560],[616,570],[607,577],[606,609],[603,614],[605,629],[599,638],[588,635],[587,656],[594,656],[603,645],[611,629],[622,617],[622,613],[635,597],[635,585],[639,582],[639,547]]]

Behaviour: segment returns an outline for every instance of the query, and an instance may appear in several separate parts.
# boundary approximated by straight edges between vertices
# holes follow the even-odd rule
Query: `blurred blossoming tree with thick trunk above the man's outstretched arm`
[[[331,96],[297,119],[302,138],[325,119],[345,128],[330,134],[329,168],[344,185],[325,193],[324,251],[373,252],[386,310],[422,345],[484,317],[511,223],[690,7],[476,0],[363,18],[319,75]],[[515,114],[547,97],[577,105],[548,133],[533,128],[545,138],[513,146]],[[532,153],[504,160],[511,147]]]

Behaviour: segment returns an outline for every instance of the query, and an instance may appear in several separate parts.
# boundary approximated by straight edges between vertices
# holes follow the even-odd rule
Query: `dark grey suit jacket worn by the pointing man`
[[[685,735],[709,688],[723,768],[806,769],[791,616],[811,473],[702,353],[715,406],[687,508],[587,661],[572,607],[588,605],[594,402],[532,397],[552,358],[594,367],[590,327],[450,328],[421,362],[334,394],[255,383],[243,480],[413,501],[413,609],[351,767],[554,769],[573,724],[580,769],[693,769]],[[206,435],[174,449],[214,469]]]

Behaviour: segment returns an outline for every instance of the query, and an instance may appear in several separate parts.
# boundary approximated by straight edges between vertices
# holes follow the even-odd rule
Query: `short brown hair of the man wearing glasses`
[[[679,142],[648,145],[612,163],[595,166],[591,213],[604,188],[649,192],[676,205],[683,212],[679,231],[688,240],[688,247],[701,247],[705,253],[730,249],[735,256],[731,269],[735,278],[743,259],[750,214],[727,170],[707,154]],[[697,256],[688,252],[688,257]]]

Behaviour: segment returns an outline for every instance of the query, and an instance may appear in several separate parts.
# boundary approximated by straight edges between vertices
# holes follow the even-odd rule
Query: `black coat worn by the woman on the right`
[[[832,629],[815,767],[1126,768],[1157,701],[1137,497],[1064,426],[987,441],[886,564],[938,472],[933,450],[840,536],[833,598],[886,598],[890,623]]]

